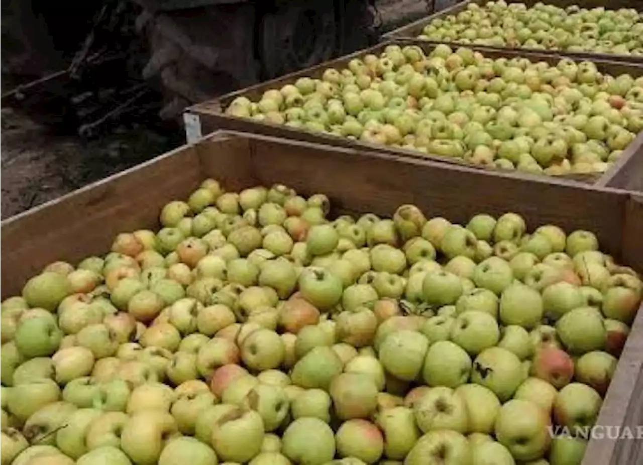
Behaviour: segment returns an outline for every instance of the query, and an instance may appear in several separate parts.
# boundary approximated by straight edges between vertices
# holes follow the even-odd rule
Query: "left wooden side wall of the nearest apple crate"
[[[201,178],[194,148],[181,147],[0,221],[0,300],[50,262],[105,253],[116,234],[158,226],[161,206]]]

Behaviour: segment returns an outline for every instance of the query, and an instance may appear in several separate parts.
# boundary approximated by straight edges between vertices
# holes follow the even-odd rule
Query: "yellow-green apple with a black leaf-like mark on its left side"
[[[491,389],[501,402],[507,401],[523,381],[520,359],[500,347],[489,347],[473,361],[471,381]]]

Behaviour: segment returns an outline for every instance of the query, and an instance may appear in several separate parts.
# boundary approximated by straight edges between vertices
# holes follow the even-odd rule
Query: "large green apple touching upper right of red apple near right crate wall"
[[[556,333],[572,354],[602,350],[607,340],[602,315],[594,307],[578,307],[565,313],[556,322]]]

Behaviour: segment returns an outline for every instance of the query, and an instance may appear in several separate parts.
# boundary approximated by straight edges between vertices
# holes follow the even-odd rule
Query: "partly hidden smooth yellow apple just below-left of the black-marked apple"
[[[481,385],[466,384],[455,390],[463,400],[467,410],[467,431],[493,433],[500,401],[493,391]]]

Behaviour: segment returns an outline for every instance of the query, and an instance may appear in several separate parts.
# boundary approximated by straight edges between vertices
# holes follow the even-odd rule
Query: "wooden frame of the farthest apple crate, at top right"
[[[443,19],[449,15],[457,15],[458,13],[467,9],[467,6],[470,3],[475,3],[477,5],[485,5],[489,0],[465,0],[457,3],[456,5],[440,10],[440,12],[434,13],[413,23],[406,24],[406,26],[401,26],[395,30],[387,32],[382,35],[383,40],[392,40],[392,39],[417,39],[419,35],[422,34],[424,26],[428,26],[435,19]],[[507,3],[518,3],[514,0],[508,0]],[[619,8],[633,8],[638,12],[643,12],[643,5],[638,0],[615,0],[608,3],[601,0],[550,0],[539,2],[538,0],[525,0],[520,3],[525,4],[528,8],[536,5],[537,3],[545,3],[545,5],[554,5],[559,8],[566,8],[568,6],[579,6],[581,8],[605,8],[606,10],[618,10]],[[454,41],[455,42],[455,41]],[[508,47],[495,46],[498,50],[516,50]],[[582,59],[602,59],[602,60],[615,60],[622,62],[633,62],[633,63],[642,63],[643,55],[623,55],[623,54],[614,54],[614,53],[592,53],[590,51],[564,51],[564,50],[541,50],[534,48],[520,48],[520,50],[529,50],[529,51],[540,51],[542,53],[564,53],[572,57],[579,57]]]

